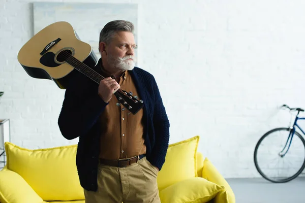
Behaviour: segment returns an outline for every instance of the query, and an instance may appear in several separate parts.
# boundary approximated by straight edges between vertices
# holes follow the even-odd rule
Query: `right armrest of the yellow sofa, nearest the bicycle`
[[[223,190],[216,197],[216,199],[222,198],[222,196],[226,196],[227,197],[226,202],[230,202],[230,203],[235,202],[235,195],[229,183],[224,179],[224,177],[219,173],[217,168],[212,164],[212,162],[207,157],[203,161],[202,177],[207,179],[208,181],[211,181],[213,183],[225,187],[225,190]],[[216,202],[221,202],[221,201],[216,201]]]

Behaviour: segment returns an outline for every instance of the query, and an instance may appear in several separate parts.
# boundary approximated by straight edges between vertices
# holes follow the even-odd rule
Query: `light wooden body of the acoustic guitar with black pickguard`
[[[75,69],[61,59],[59,53],[63,55],[64,50],[89,67],[97,63],[92,47],[80,41],[71,24],[63,21],[50,24],[33,36],[20,49],[18,61],[29,76],[53,80],[59,88],[66,89],[69,74]]]

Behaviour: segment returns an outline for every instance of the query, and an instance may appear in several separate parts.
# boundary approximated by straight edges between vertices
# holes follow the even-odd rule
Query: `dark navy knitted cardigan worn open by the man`
[[[101,74],[100,62],[93,69]],[[165,162],[169,142],[169,121],[153,75],[135,67],[129,71],[144,101],[144,144],[146,157],[160,170]],[[72,73],[71,73],[72,74]],[[63,136],[72,140],[79,137],[76,166],[81,186],[97,191],[98,162],[100,152],[100,114],[108,103],[98,95],[98,84],[79,72],[73,71],[74,79],[68,85],[58,126]],[[127,90],[126,90],[127,91]],[[113,97],[112,99],[116,99]]]

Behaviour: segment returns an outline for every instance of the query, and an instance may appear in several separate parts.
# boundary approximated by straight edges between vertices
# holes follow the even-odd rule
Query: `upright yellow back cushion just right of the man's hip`
[[[159,191],[182,180],[197,177],[196,154],[199,136],[168,146],[165,163],[158,174]]]

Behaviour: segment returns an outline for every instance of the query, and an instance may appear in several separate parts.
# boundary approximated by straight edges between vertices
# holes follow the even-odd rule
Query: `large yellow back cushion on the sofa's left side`
[[[29,150],[5,143],[8,170],[18,173],[45,201],[81,200],[77,145]]]

